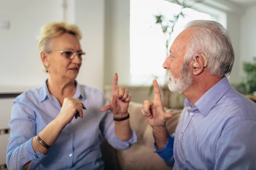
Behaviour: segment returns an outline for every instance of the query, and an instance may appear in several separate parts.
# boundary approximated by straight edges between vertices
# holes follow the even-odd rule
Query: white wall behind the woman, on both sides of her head
[[[36,36],[44,24],[64,19],[77,23],[83,33],[81,46],[87,57],[79,73],[79,83],[103,89],[104,0],[67,2],[69,9],[64,18],[62,0],[0,1],[0,21],[11,21],[9,30],[0,29],[1,89],[7,85],[26,89],[44,82],[47,74],[42,71]]]

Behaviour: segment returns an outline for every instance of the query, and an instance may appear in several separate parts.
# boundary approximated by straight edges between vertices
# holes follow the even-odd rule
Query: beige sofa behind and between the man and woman
[[[101,145],[102,159],[105,170],[172,170],[165,162],[154,153],[154,137],[148,120],[141,113],[141,103],[130,102],[131,128],[137,134],[137,143],[128,150],[116,150],[104,141]],[[173,116],[166,122],[169,133],[174,133],[182,110],[165,108]]]

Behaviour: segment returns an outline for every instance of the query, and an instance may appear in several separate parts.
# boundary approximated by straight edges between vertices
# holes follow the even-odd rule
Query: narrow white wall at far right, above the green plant
[[[248,7],[240,19],[240,62],[256,57],[256,6]],[[242,70],[242,65],[240,65]]]

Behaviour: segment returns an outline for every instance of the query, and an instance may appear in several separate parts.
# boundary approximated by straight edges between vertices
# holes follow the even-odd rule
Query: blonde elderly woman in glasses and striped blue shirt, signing
[[[49,78],[13,102],[6,156],[10,170],[102,170],[103,138],[119,150],[137,142],[127,111],[131,96],[118,89],[117,74],[111,103],[102,91],[76,81],[85,56],[79,40],[79,28],[64,22],[41,30],[38,47]]]

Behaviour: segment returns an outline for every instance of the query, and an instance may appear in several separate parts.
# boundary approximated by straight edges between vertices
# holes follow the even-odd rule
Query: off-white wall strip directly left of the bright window
[[[119,85],[130,82],[130,0],[105,2],[105,84],[115,73]]]

